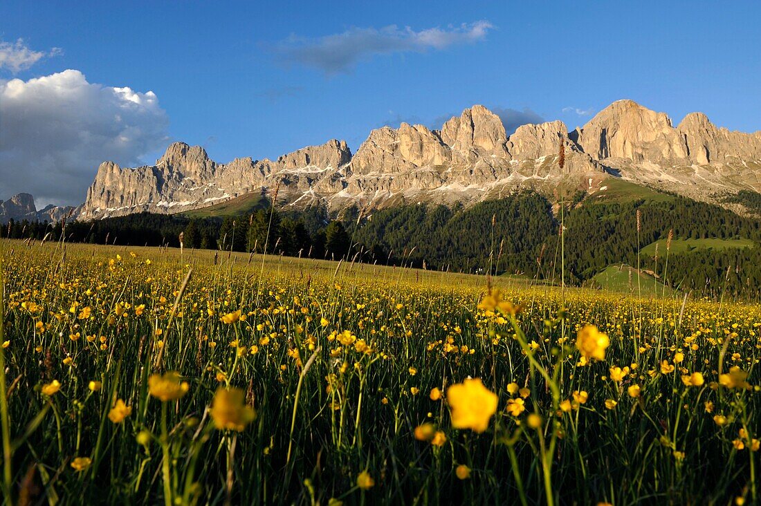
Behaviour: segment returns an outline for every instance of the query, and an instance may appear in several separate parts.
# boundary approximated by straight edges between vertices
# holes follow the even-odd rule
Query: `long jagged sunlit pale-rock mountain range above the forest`
[[[556,164],[560,142],[562,173]],[[174,142],[152,166],[101,164],[80,218],[183,212],[251,192],[272,196],[275,188],[279,205],[330,208],[468,203],[521,189],[552,196],[561,178],[591,191],[607,174],[721,202],[740,189],[761,189],[761,132],[730,132],[702,113],[688,114],[675,127],[665,113],[627,99],[572,132],[551,121],[520,126],[511,135],[499,116],[476,104],[440,130],[409,123],[374,129],[354,154],[345,141],[331,139],[275,161],[220,164],[200,146]]]

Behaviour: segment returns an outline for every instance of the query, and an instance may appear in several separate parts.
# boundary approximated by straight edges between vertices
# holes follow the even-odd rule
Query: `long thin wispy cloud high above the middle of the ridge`
[[[357,62],[374,55],[445,49],[456,44],[475,43],[486,38],[493,26],[489,21],[460,27],[428,28],[415,31],[395,24],[382,28],[351,28],[325,37],[291,36],[275,47],[286,62],[319,68],[326,74],[347,72]]]

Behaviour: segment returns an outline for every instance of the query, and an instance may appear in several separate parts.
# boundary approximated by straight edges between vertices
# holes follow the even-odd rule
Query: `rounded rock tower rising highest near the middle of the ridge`
[[[441,139],[456,151],[468,152],[473,148],[488,154],[505,156],[508,136],[502,120],[482,105],[463,110],[441,127]]]

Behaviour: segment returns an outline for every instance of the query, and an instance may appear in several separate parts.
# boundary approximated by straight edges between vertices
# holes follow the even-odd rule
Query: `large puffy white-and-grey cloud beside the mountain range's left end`
[[[0,199],[81,204],[101,162],[142,164],[166,144],[167,126],[152,91],[89,83],[78,70],[0,79]]]

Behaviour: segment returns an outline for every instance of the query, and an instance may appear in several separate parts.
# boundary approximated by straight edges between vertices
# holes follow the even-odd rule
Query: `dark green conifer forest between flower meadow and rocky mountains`
[[[224,218],[142,213],[65,224],[65,240],[352,258],[361,262],[492,275],[522,274],[559,282],[561,236],[552,204],[537,193],[455,205],[403,205],[363,214],[352,206],[277,211],[272,206]],[[639,230],[637,213],[639,212]],[[678,239],[744,238],[754,248],[670,253],[638,251],[669,231]],[[59,240],[62,224],[11,221],[5,237]],[[573,199],[565,212],[565,282],[582,285],[607,266],[641,263],[675,288],[706,294],[720,290],[758,297],[759,220],[717,205],[673,196],[664,201],[599,202]]]

